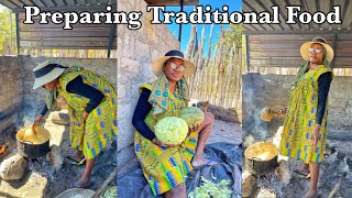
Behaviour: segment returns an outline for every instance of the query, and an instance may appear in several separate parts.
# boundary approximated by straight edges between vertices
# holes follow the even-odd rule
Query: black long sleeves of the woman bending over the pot
[[[66,86],[66,90],[72,94],[80,95],[89,99],[85,111],[90,113],[94,109],[96,109],[101,100],[103,99],[103,95],[101,91],[97,90],[94,87],[86,85],[81,78],[81,76],[77,76],[75,79],[69,81]],[[41,114],[45,116],[47,112],[46,105],[43,107]]]

